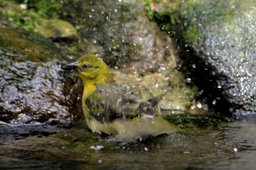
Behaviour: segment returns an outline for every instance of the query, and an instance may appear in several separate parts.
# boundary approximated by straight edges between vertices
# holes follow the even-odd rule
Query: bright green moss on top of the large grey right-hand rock
[[[172,2],[145,0],[145,10],[148,18],[155,20],[161,29],[172,31],[176,37],[182,36],[183,40],[189,43],[204,38],[202,30],[214,21],[218,25],[234,25],[236,16],[243,15],[241,12],[250,4],[255,4],[255,1],[247,0],[246,3],[240,3],[239,1],[220,0],[175,0]],[[211,31],[211,27],[207,29]]]

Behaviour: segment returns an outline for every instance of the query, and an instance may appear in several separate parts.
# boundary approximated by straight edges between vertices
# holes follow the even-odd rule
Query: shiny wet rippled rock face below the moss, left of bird
[[[63,73],[57,63],[15,62],[8,55],[1,55],[1,110],[28,113],[41,121],[60,113],[67,116],[68,108],[61,106],[65,103]]]

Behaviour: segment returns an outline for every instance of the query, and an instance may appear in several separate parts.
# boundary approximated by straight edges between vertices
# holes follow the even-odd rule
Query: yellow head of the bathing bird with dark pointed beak
[[[84,55],[76,62],[63,66],[63,69],[74,71],[84,83],[104,85],[106,82],[113,82],[113,78],[108,71],[108,66],[102,59],[92,54]]]

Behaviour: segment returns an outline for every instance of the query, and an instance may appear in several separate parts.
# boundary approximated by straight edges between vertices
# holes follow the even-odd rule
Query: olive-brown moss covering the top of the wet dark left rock
[[[50,41],[16,29],[0,29],[0,50],[13,53],[10,57],[16,62],[47,62],[54,57],[67,55],[67,50],[56,48]]]

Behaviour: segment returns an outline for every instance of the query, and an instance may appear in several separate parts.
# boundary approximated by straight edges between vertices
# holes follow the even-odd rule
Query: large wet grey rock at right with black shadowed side
[[[188,51],[180,55],[182,69],[202,89],[203,98],[227,102],[223,107],[232,111],[256,111],[255,1],[149,4],[156,18],[170,17],[160,25],[172,30]],[[172,10],[164,13],[166,8]]]

